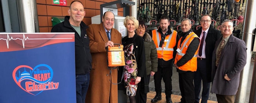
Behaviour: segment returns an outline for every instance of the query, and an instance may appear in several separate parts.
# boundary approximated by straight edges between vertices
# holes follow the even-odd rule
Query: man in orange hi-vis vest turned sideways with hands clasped
[[[197,69],[197,51],[199,47],[199,38],[191,29],[190,19],[182,20],[181,38],[177,44],[177,54],[174,65],[179,72],[179,85],[182,98],[179,103],[194,103],[195,90],[193,79]]]

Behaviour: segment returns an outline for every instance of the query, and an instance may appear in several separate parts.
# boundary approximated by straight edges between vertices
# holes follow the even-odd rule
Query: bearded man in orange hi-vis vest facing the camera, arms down
[[[157,72],[154,74],[156,96],[151,100],[152,103],[162,99],[162,78],[165,85],[166,103],[172,103],[172,66],[179,36],[176,31],[168,27],[169,25],[169,17],[164,15],[160,19],[160,27],[152,31],[158,58]]]

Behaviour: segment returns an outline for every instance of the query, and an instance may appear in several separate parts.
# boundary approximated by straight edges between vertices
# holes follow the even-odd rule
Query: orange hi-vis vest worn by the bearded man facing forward
[[[157,58],[163,58],[163,60],[168,61],[173,58],[173,47],[176,45],[177,32],[171,29],[172,34],[167,35],[164,38],[164,43],[162,47],[159,47],[161,40],[161,33],[157,32],[157,29],[152,31],[152,39],[156,44]]]

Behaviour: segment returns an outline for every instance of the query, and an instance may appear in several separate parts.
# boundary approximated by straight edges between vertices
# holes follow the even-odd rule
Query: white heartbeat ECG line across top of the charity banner
[[[9,34],[7,34],[7,39],[0,38],[0,40],[6,40],[6,45],[7,45],[8,49],[9,49],[9,41],[11,41],[11,40],[21,40],[22,41],[22,45],[23,45],[23,49],[24,49],[25,48],[24,44],[25,44],[26,40],[49,40],[49,39],[73,39],[73,38],[34,38],[34,39],[30,39],[28,36],[26,37],[25,34],[23,34],[23,38],[22,39],[20,39],[20,38],[13,38],[12,36],[9,37]]]

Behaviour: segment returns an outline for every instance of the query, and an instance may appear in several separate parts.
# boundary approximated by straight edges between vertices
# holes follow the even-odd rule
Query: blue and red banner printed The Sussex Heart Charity
[[[75,103],[74,33],[0,33],[0,103]]]

